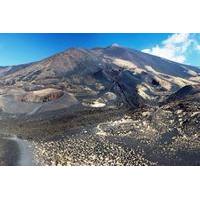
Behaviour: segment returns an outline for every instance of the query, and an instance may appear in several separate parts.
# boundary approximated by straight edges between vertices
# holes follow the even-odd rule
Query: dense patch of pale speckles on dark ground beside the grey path
[[[134,149],[109,142],[91,134],[62,140],[34,142],[39,165],[154,165]]]

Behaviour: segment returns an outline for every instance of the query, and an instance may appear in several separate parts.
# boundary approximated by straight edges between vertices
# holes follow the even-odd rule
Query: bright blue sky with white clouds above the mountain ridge
[[[200,34],[0,34],[0,66],[41,60],[69,47],[113,43],[200,66]]]

